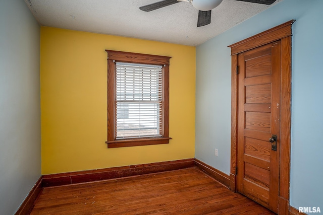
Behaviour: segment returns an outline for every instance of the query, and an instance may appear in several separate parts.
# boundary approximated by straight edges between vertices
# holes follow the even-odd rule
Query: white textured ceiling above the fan
[[[198,10],[181,2],[151,12],[140,6],[160,0],[25,0],[42,26],[183,45],[199,45],[273,5],[223,0],[211,24],[196,27]]]

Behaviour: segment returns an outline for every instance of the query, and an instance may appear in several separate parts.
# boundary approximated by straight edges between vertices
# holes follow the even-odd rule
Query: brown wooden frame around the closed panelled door
[[[291,47],[290,20],[277,27],[230,45],[231,48],[231,168],[230,189],[236,192],[238,144],[238,54],[259,46],[281,41],[281,146],[279,169],[278,214],[289,213],[290,150],[291,150]]]

